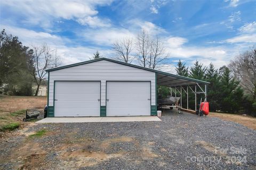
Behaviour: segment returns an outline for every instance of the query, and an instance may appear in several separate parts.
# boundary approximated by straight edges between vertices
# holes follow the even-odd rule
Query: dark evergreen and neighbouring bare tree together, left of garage
[[[8,95],[38,95],[39,87],[46,84],[46,69],[57,67],[61,60],[57,51],[47,44],[23,45],[17,36],[0,34],[0,93]],[[35,91],[33,84],[36,85]]]

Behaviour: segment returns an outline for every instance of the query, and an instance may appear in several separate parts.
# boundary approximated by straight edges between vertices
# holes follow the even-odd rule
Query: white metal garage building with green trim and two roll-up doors
[[[46,71],[47,117],[156,115],[157,85],[207,83],[106,58]]]

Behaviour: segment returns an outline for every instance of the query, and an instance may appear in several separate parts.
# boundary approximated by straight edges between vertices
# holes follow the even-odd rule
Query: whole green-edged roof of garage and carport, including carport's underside
[[[154,70],[154,69],[149,69],[149,68],[145,68],[145,67],[141,67],[141,66],[136,66],[134,64],[129,64],[129,63],[116,61],[116,60],[112,60],[112,59],[107,59],[107,58],[100,58],[100,59],[95,59],[95,60],[90,60],[90,61],[79,62],[79,63],[75,63],[75,64],[69,64],[67,66],[47,69],[46,71],[50,72],[50,71],[55,71],[55,70],[61,70],[61,69],[80,66],[80,65],[83,65],[83,64],[97,62],[97,61],[101,61],[101,60],[106,60],[106,61],[115,62],[115,63],[118,63],[118,64],[123,64],[125,66],[130,66],[130,67],[135,67],[135,68],[155,72],[156,77],[157,77],[157,85],[175,87],[175,86],[186,86],[186,85],[196,85],[196,84],[210,84],[209,82],[205,82],[205,81],[202,81],[202,80],[189,78],[189,77],[183,77],[183,76],[179,76],[179,75],[174,75],[174,74],[170,74],[170,73],[167,73],[167,72]]]

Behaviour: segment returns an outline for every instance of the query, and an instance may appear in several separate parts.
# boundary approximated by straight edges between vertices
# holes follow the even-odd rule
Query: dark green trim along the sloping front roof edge
[[[170,73],[167,73],[167,72],[158,71],[158,70],[154,70],[154,69],[150,69],[150,68],[145,68],[145,67],[141,67],[141,66],[136,66],[136,65],[134,65],[134,64],[129,64],[129,63],[125,63],[125,62],[122,62],[122,61],[116,61],[116,60],[111,60],[111,59],[107,59],[107,58],[100,58],[100,59],[95,59],[95,60],[90,60],[90,61],[79,62],[79,63],[75,63],[75,64],[69,64],[69,65],[67,65],[67,66],[62,66],[62,67],[47,69],[46,71],[61,70],[61,69],[70,68],[70,67],[75,67],[75,66],[80,66],[80,65],[83,65],[83,64],[92,63],[92,62],[101,61],[101,60],[106,60],[106,61],[110,61],[110,62],[115,62],[115,63],[118,63],[118,64],[123,64],[123,65],[125,65],[125,66],[130,66],[130,67],[134,67],[134,68],[139,68],[139,69],[143,69],[143,70],[147,70],[147,71],[151,71],[151,72],[156,72],[156,73],[159,73],[159,74],[164,74],[164,75],[172,76],[172,77],[176,77],[176,78],[191,80],[191,81],[197,82],[197,83],[210,84],[209,82],[205,82],[205,81],[202,81],[202,80],[197,80],[197,79],[189,78],[189,77],[183,77],[183,76],[179,76],[179,75],[173,75],[173,74],[170,74]]]

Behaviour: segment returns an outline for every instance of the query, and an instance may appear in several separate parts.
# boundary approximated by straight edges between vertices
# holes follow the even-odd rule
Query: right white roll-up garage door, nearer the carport
[[[149,116],[150,82],[107,82],[107,116]]]

